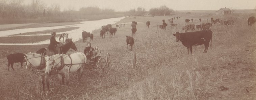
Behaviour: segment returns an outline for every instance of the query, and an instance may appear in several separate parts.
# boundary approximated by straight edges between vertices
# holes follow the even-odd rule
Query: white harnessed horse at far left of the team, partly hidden
[[[42,81],[42,85],[43,85],[43,92],[41,95],[44,95],[45,94],[45,69],[46,69],[45,57],[40,54],[30,52],[26,54],[25,58],[26,58],[26,69],[31,70],[31,72],[35,72],[39,74]]]

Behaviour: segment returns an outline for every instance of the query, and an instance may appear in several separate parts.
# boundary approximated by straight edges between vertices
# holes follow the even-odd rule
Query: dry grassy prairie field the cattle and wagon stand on
[[[70,84],[60,88],[57,75],[51,75],[51,93],[48,96],[41,95],[41,80],[37,74],[26,70],[25,63],[23,68],[15,63],[15,70],[8,71],[6,59],[8,54],[34,53],[48,44],[1,45],[0,99],[255,100],[256,25],[250,27],[247,23],[248,16],[255,15],[245,12],[223,16],[208,11],[186,14],[184,11],[170,16],[126,17],[117,22],[126,24],[117,30],[115,37],[108,34],[100,39],[99,29],[92,32],[94,41],[88,39],[92,47],[99,46],[104,58],[110,53],[111,66],[105,70],[84,69],[82,82],[77,81],[77,73],[70,73]],[[177,28],[170,27],[168,19],[177,16],[181,17],[173,20],[178,24]],[[227,26],[213,24],[212,46],[207,53],[203,53],[204,45],[200,45],[193,46],[194,55],[188,55],[186,47],[176,42],[173,34],[184,32],[185,19],[194,19],[189,24],[199,25],[210,22],[211,18],[234,20],[235,23]],[[163,19],[168,23],[166,30],[158,27]],[[133,52],[127,49],[126,44],[126,36],[132,35],[132,21],[138,22],[134,36],[136,66],[133,66]],[[147,21],[150,21],[149,29],[146,28]],[[75,45],[78,48],[76,52],[83,52],[87,43],[79,40]]]

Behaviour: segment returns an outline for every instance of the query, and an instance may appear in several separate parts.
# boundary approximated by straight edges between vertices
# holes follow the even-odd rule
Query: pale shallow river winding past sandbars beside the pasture
[[[85,21],[85,22],[81,22],[81,24],[75,24],[75,25],[6,30],[6,31],[0,31],[0,37],[14,35],[18,33],[22,34],[27,32],[36,32],[36,31],[60,29],[60,28],[67,28],[67,27],[79,27],[78,29],[75,29],[75,30],[57,33],[57,34],[69,33],[69,38],[72,38],[73,41],[78,41],[79,39],[82,38],[82,35],[81,35],[82,31],[92,32],[93,30],[100,29],[101,26],[103,25],[116,24],[118,21],[124,18],[125,17],[123,16],[120,18],[103,19],[103,20],[97,20],[97,21]],[[49,35],[49,33],[38,34],[38,35]],[[19,35],[19,36],[36,36],[36,35]],[[24,39],[26,39],[26,37],[24,37]],[[56,40],[59,40],[59,37],[56,37]],[[49,44],[49,43],[50,43],[50,37],[47,40],[39,41],[35,43],[0,43],[0,45],[40,45],[40,44]]]

